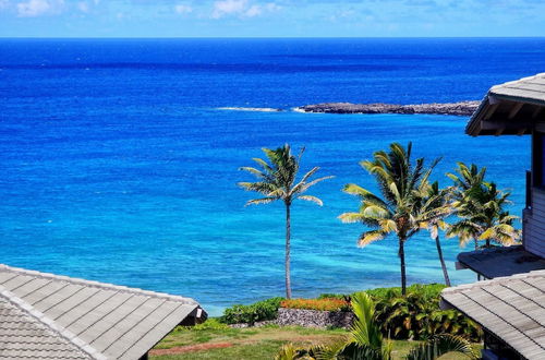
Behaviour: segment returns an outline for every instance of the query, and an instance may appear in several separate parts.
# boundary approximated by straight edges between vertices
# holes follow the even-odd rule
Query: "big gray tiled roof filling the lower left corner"
[[[206,313],[190,298],[0,265],[0,358],[138,359],[187,316]]]

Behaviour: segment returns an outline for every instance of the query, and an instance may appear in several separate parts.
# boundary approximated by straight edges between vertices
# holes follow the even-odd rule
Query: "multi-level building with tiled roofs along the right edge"
[[[493,86],[465,132],[532,136],[522,245],[460,253],[488,280],[445,289],[441,307],[483,326],[484,359],[545,359],[545,73]]]

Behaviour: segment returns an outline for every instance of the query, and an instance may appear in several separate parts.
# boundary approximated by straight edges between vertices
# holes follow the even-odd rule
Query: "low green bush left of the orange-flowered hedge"
[[[258,301],[251,305],[237,304],[225,310],[219,321],[223,324],[254,324],[258,321],[275,320],[283,298]]]

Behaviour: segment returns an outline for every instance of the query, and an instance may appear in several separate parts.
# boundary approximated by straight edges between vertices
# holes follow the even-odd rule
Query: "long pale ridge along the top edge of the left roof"
[[[50,279],[57,279],[57,280],[63,280],[63,281],[69,281],[71,284],[81,284],[85,285],[88,287],[98,287],[98,288],[105,288],[105,289],[110,289],[110,290],[118,290],[118,291],[124,291],[124,292],[131,292],[131,293],[140,293],[153,298],[159,298],[159,299],[172,299],[175,301],[183,301],[187,304],[193,304],[197,303],[194,299],[192,298],[185,298],[185,297],[180,297],[175,295],[170,295],[166,292],[157,292],[157,291],[149,291],[149,290],[144,290],[141,288],[134,288],[134,287],[128,287],[128,286],[121,286],[121,285],[114,285],[110,283],[100,283],[100,281],[95,281],[95,280],[86,280],[83,278],[77,278],[77,277],[70,277],[70,276],[64,276],[64,275],[56,275],[51,273],[43,273],[38,271],[29,271],[26,268],[21,268],[21,267],[12,267],[5,264],[0,264],[0,271],[8,271],[8,272],[13,272],[16,274],[26,274],[26,275],[32,275],[35,277],[40,277],[40,278],[50,278]]]

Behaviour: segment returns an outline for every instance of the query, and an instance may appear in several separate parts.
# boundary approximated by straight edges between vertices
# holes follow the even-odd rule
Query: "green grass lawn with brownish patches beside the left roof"
[[[209,325],[206,325],[208,324]],[[287,343],[296,345],[324,344],[342,339],[343,329],[311,329],[299,326],[229,328],[208,321],[195,328],[179,327],[150,352],[156,360],[181,359],[274,359]],[[393,341],[393,359],[402,359],[414,341]],[[467,359],[446,356],[441,359]]]

